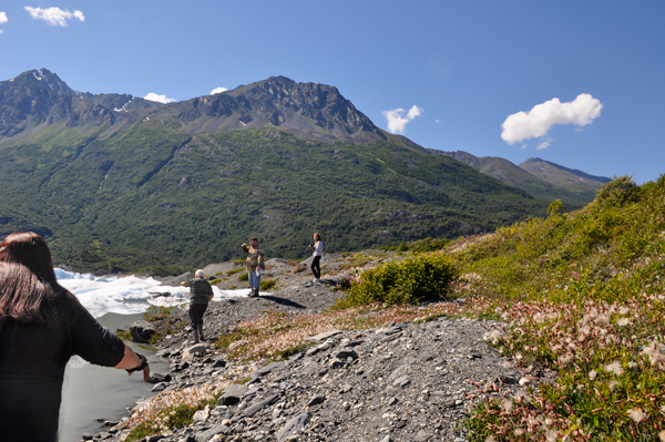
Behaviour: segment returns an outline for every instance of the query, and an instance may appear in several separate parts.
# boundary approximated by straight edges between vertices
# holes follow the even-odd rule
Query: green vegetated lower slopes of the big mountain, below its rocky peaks
[[[238,258],[250,236],[289,259],[309,253],[313,232],[328,251],[457,238],[548,204],[401,138],[359,148],[275,129],[192,135],[153,119],[49,131],[0,145],[0,236],[35,230],[55,264],[80,271],[178,275]]]

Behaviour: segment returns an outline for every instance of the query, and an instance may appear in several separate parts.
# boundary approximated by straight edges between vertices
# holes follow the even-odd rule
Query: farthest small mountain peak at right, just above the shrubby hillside
[[[529,158],[520,167],[533,176],[552,183],[555,186],[574,192],[581,196],[593,197],[595,192],[612,179],[604,176],[594,176],[585,172],[567,168],[559,164],[541,160]]]

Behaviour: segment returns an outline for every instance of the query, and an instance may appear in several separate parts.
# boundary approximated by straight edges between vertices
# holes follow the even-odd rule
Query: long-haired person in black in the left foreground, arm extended
[[[73,354],[150,378],[146,359],[58,284],[47,243],[31,232],[8,236],[0,244],[0,440],[58,440],[62,380]]]

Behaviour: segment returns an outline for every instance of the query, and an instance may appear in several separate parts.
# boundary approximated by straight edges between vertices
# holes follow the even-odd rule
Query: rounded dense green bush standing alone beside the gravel
[[[452,259],[442,254],[419,255],[362,273],[338,307],[370,302],[416,304],[444,295],[456,278]]]

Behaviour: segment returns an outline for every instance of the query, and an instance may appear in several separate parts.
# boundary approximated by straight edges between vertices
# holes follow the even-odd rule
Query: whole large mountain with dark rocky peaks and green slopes
[[[489,232],[548,202],[377,127],[284,76],[178,103],[81,93],[45,69],[0,82],[0,237],[78,270],[174,274],[239,258]],[[191,269],[191,268],[190,268]]]

